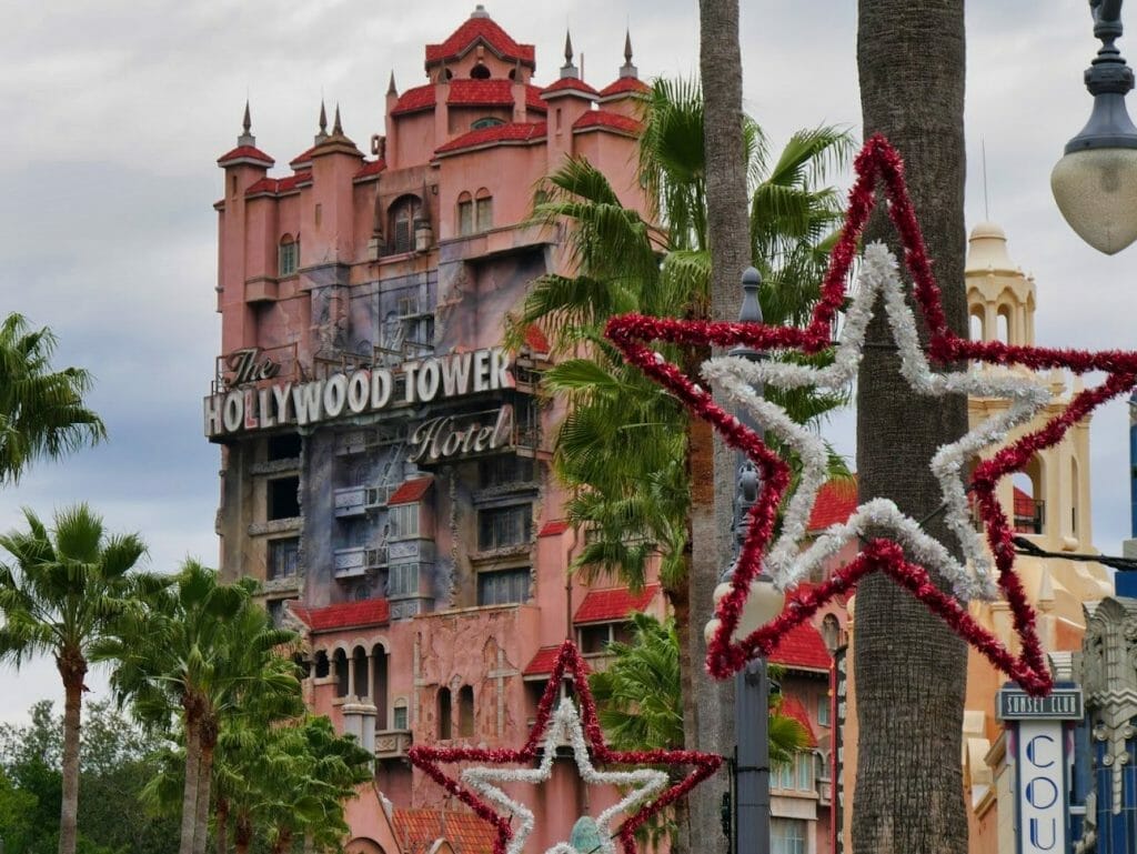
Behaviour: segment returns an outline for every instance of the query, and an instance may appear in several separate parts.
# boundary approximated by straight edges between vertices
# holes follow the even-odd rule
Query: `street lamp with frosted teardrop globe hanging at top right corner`
[[[1094,36],[1102,40],[1086,69],[1094,109],[1051,174],[1054,200],[1070,227],[1107,255],[1137,240],[1137,127],[1126,110],[1134,73],[1114,45],[1122,32],[1121,2],[1090,0]]]

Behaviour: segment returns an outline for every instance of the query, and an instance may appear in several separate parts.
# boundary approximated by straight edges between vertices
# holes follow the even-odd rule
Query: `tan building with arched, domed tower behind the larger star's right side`
[[[1011,345],[1035,343],[1035,281],[1011,260],[1006,234],[993,223],[971,232],[965,282],[971,337]],[[985,370],[985,368],[977,368]],[[1012,438],[1037,430],[1059,414],[1080,389],[1079,378],[1051,374],[1053,399]],[[1007,406],[1004,399],[970,398],[976,426]],[[1053,448],[1040,451],[1014,478],[999,484],[999,501],[1019,536],[1052,553],[1093,553],[1089,489],[1089,421],[1071,429]],[[1086,631],[1082,604],[1113,592],[1105,570],[1095,563],[1020,555],[1015,561],[1027,596],[1038,612],[1038,631],[1048,653],[1081,648]],[[1009,606],[972,603],[971,613],[1009,646],[1014,640]],[[995,719],[995,693],[1005,678],[974,649],[968,661],[964,713],[964,785],[971,807],[971,851],[1014,851],[1014,804],[1003,727]]]

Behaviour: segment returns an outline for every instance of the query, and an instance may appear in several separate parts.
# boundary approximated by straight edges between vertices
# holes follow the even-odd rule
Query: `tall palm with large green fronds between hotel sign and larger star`
[[[605,322],[625,312],[706,314],[711,259],[703,100],[695,84],[657,81],[645,107],[640,174],[652,218],[623,207],[587,160],[566,161],[542,188],[536,215],[568,222],[576,275],[539,279],[515,329],[539,322],[559,353],[575,356],[545,376],[545,388],[570,404],[554,456],[559,480],[573,494],[567,515],[590,529],[574,567],[587,577],[614,572],[634,588],[645,582],[648,561],[658,555],[681,639],[687,744],[695,747],[702,743],[695,732],[699,715],[694,697],[703,705],[716,690],[703,683],[692,688],[689,681],[702,673],[692,662],[703,657],[702,648],[694,646],[694,637],[702,644],[702,632],[691,632],[691,627],[709,616],[705,607],[689,613],[700,600],[689,597],[688,588],[691,531],[698,521],[691,513],[691,484],[697,492],[709,483],[706,470],[692,476],[691,461],[698,442],[708,438],[601,335]],[[742,131],[744,172],[752,179],[756,221],[748,240],[762,254],[756,260],[765,280],[765,316],[771,322],[799,321],[816,295],[824,246],[840,219],[839,200],[823,183],[825,168],[846,158],[849,138],[830,127],[799,132],[769,167],[761,130],[747,119]],[[656,218],[662,226],[653,224]],[[738,289],[737,276],[733,287]],[[705,355],[662,346],[661,351],[692,371]],[[796,395],[779,403],[807,422],[839,400]],[[703,600],[709,607],[711,590]],[[703,746],[721,748],[717,741]]]

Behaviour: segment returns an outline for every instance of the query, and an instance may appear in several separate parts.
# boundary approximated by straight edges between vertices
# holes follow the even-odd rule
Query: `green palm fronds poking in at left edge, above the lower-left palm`
[[[51,330],[32,331],[19,314],[0,323],[0,483],[18,481],[34,459],[107,437],[83,401],[91,375],[77,367],[52,371],[55,348]]]

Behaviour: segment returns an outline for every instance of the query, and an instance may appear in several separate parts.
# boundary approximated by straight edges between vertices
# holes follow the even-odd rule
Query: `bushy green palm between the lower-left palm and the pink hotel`
[[[276,648],[296,635],[273,627],[252,598],[257,584],[218,581],[217,571],[186,561],[149,612],[121,622],[100,644],[115,662],[111,687],[136,716],[160,726],[180,719],[185,744],[180,854],[202,854],[208,837],[214,751],[226,720],[273,704],[280,714],[301,706],[300,683]]]

